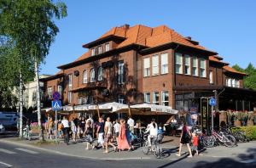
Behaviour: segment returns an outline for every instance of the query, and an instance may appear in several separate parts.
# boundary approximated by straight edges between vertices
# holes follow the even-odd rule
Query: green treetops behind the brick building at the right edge
[[[247,76],[244,78],[244,87],[256,90],[256,68],[253,64],[248,64],[246,69],[242,69],[239,65],[233,66],[235,70],[244,72]]]

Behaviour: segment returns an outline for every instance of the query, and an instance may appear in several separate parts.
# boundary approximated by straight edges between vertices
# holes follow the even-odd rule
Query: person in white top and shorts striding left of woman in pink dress
[[[116,151],[116,147],[111,143],[111,138],[112,138],[112,132],[113,132],[113,125],[110,121],[110,117],[107,118],[107,121],[105,122],[105,127],[104,127],[104,132],[105,132],[105,152],[108,153],[108,145],[111,145],[113,147],[113,150]]]

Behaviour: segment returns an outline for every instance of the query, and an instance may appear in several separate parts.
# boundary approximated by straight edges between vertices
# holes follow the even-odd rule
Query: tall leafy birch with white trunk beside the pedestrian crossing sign
[[[43,139],[40,110],[38,67],[49,53],[59,29],[54,19],[67,16],[67,6],[51,0],[2,0],[0,3],[0,30],[15,40],[16,48],[33,61],[38,92],[39,137]],[[20,52],[23,53],[23,52]]]

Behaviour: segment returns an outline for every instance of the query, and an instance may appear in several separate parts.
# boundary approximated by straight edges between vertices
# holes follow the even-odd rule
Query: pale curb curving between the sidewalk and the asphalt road
[[[52,154],[60,154],[60,155],[64,155],[64,156],[72,156],[72,157],[81,158],[81,159],[88,159],[88,160],[150,160],[151,159],[149,157],[148,158],[145,158],[145,157],[118,158],[118,159],[95,158],[95,157],[87,157],[87,156],[81,156],[81,155],[76,155],[76,154],[65,154],[65,153],[61,153],[60,151],[55,151],[55,150],[51,150],[51,149],[48,149],[48,148],[40,148],[40,147],[35,147],[33,145],[30,145],[30,144],[18,143],[18,142],[14,142],[14,141],[3,140],[3,139],[0,139],[0,143],[8,143],[8,144],[18,145],[18,146],[26,147],[26,148],[35,148],[35,149],[43,150],[45,152],[49,152],[49,153],[52,153]]]

